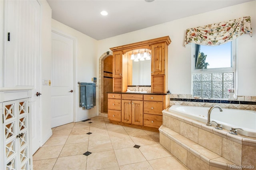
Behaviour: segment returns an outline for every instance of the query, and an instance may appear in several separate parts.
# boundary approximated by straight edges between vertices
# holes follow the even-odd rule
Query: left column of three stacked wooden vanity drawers
[[[121,121],[121,94],[108,94],[108,119]]]

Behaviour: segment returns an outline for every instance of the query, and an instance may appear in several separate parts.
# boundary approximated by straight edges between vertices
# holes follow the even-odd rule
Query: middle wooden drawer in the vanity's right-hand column
[[[163,102],[144,101],[144,113],[162,115]]]

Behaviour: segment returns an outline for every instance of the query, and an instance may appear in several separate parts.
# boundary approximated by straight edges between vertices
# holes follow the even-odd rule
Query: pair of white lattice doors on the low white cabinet
[[[30,167],[28,98],[3,102],[4,169]]]

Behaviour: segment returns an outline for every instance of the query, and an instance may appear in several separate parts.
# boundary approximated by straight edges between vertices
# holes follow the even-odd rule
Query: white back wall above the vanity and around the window
[[[239,4],[170,21],[146,29],[110,37],[98,41],[100,57],[109,48],[126,45],[148,39],[170,36],[168,46],[168,89],[172,94],[191,94],[191,45],[184,47],[186,29],[210,23],[250,16],[252,29],[256,28],[256,1]],[[256,96],[256,36],[242,35],[238,38],[238,95]]]

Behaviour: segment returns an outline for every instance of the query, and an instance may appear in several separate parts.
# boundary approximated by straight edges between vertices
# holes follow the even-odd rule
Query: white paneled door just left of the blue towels
[[[74,120],[74,40],[52,32],[52,127]]]

